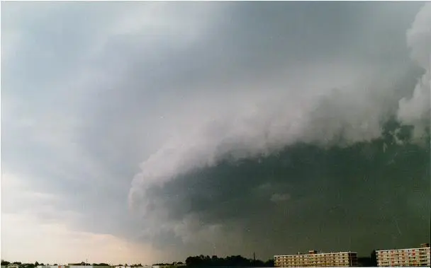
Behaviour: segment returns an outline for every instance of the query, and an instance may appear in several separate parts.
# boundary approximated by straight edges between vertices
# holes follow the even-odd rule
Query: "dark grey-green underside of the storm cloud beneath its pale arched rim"
[[[224,160],[147,193],[172,221],[198,214],[201,226],[241,226],[237,253],[246,255],[415,246],[430,241],[430,148],[405,142],[411,130],[391,120],[371,142],[294,144],[268,157]],[[158,246],[178,250],[174,233],[162,236]]]

